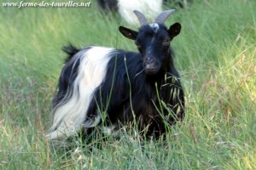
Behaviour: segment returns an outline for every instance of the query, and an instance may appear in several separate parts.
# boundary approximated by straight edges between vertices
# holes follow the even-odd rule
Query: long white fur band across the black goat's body
[[[54,121],[47,139],[57,139],[76,133],[87,116],[95,89],[102,83],[107,73],[107,65],[111,59],[113,48],[92,47],[81,50],[74,56],[80,59],[78,76],[73,82],[73,94],[67,101],[57,105],[54,110]],[[65,99],[65,98],[64,98]],[[96,126],[99,116],[90,127]],[[83,125],[84,127],[84,125]]]

